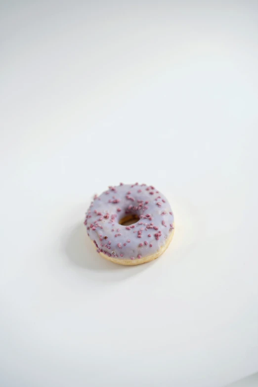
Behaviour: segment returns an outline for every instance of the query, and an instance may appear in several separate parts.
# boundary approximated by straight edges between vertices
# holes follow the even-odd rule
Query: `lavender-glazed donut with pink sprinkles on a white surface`
[[[138,183],[120,183],[94,195],[84,224],[97,253],[121,265],[158,258],[174,232],[168,200],[152,185]]]

